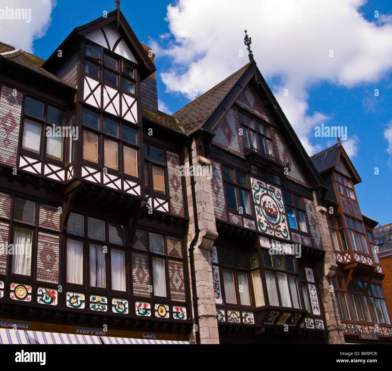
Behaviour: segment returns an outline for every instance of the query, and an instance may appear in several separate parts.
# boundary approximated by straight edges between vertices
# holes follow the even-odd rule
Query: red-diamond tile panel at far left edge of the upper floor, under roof
[[[23,94],[2,86],[0,95],[0,163],[16,166]]]

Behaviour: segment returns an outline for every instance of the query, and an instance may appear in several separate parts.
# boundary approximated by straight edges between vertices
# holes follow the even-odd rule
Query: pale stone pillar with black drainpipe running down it
[[[192,204],[191,176],[189,176],[188,150],[184,149],[184,164],[186,169],[187,202],[189,211],[189,228],[187,233],[187,251],[189,282],[192,278],[189,260],[189,247],[195,236],[195,223]],[[196,276],[196,289],[198,296],[199,328],[201,344],[219,344],[218,321],[216,320],[216,306],[214,285],[212,280],[211,248],[218,237],[216,232],[214,203],[212,199],[211,176],[209,165],[211,162],[196,153],[196,145],[192,142],[192,164],[194,166],[194,180],[196,192],[196,208],[199,224],[199,238],[194,245],[194,270]],[[208,166],[208,168],[207,168]],[[193,313],[192,302],[192,313]],[[193,313],[194,318],[194,313]],[[191,343],[196,342],[196,333],[193,329]]]

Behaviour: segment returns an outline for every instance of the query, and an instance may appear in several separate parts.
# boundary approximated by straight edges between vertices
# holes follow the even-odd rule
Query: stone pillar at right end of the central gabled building
[[[332,289],[330,287],[332,285],[330,278],[335,275],[335,270],[338,265],[336,264],[334,247],[329,233],[327,209],[323,206],[318,206],[315,192],[313,192],[313,203],[316,209],[321,243],[325,250],[324,262],[323,264],[318,265],[318,277],[325,319],[327,320],[327,341],[329,344],[344,344],[345,341],[338,313],[338,304],[335,303],[335,295],[330,292]]]

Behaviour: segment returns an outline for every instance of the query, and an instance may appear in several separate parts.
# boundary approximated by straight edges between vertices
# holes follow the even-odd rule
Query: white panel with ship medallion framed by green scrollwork
[[[281,190],[255,178],[250,178],[250,181],[258,230],[289,240]]]

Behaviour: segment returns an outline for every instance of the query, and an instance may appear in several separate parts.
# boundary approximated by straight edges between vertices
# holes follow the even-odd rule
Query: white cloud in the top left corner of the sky
[[[54,0],[0,0],[0,9],[30,9],[25,12],[31,15],[30,22],[26,19],[1,19],[0,41],[33,53],[33,41],[45,36],[51,22],[52,9],[56,6]],[[27,20],[28,21],[28,20]]]

